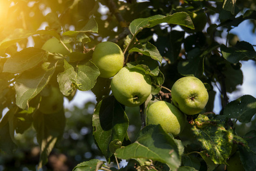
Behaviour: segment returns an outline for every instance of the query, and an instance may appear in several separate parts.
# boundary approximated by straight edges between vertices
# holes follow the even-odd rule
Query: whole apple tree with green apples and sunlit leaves
[[[1,154],[19,150],[17,137],[33,130],[37,169],[44,170],[71,123],[63,100],[91,91],[97,103],[86,115],[83,128],[92,131],[82,144],[93,140],[102,157],[74,171],[255,170],[256,99],[229,100],[243,84],[241,62],[256,59],[254,45],[230,31],[243,21],[255,31],[255,5],[1,1]],[[222,109],[214,113],[218,98]],[[83,117],[71,115],[76,123]]]

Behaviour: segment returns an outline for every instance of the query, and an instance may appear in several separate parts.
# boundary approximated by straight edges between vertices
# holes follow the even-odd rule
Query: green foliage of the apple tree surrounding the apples
[[[94,92],[97,97],[92,117],[95,144],[107,162],[128,161],[119,170],[211,171],[227,164],[234,146],[238,146],[243,167],[253,170],[255,131],[247,132],[242,138],[235,132],[231,119],[235,123],[250,123],[256,112],[256,99],[245,95],[229,103],[227,92],[234,92],[243,82],[240,61],[255,60],[256,52],[248,42],[221,44],[217,37],[222,38],[224,29],[229,32],[246,19],[255,19],[256,11],[243,11],[245,5],[234,1],[100,2],[112,13],[106,14],[107,19],[101,19],[103,14],[97,11],[99,3],[92,0],[65,1],[62,5],[45,1],[43,4],[52,10],[46,16],[43,15],[46,9],[37,10],[44,8],[41,3],[31,1],[34,5],[30,7],[26,2],[13,1],[10,10],[16,11],[14,15],[19,22],[9,21],[6,25],[18,29],[11,30],[11,34],[5,28],[0,30],[3,37],[0,109],[8,109],[3,117],[1,112],[0,149],[13,152],[17,148],[15,133],[22,134],[33,125],[41,149],[38,168],[47,163],[47,157],[63,135],[66,118],[63,106],[58,112],[45,114],[40,104],[47,96],[47,89],[58,87],[61,96],[69,100],[77,89]],[[113,4],[119,5],[119,10]],[[24,13],[22,6],[34,15]],[[21,11],[26,15],[23,23],[18,19]],[[211,23],[210,17],[216,14],[219,23]],[[237,17],[237,14],[241,15]],[[38,21],[45,19],[49,26],[38,30],[41,25]],[[173,30],[177,25],[182,29]],[[115,27],[117,32],[113,31]],[[63,55],[42,50],[44,40],[50,37],[63,45],[71,44],[73,51]],[[26,47],[29,38],[35,46]],[[170,89],[181,76],[193,75],[209,86],[205,112],[211,112],[215,96],[212,87],[221,85],[220,115],[203,113],[188,117],[187,128],[179,139],[164,132],[160,125],[143,125],[135,140],[130,140],[127,109],[109,95],[111,79],[98,78],[99,70],[90,61],[93,47],[103,38],[122,45],[127,67],[137,67],[151,76],[153,99],[165,91],[162,87]],[[17,49],[17,44],[22,50]],[[151,97],[141,106],[142,123]],[[73,170],[81,169],[117,170],[96,159],[82,162]]]

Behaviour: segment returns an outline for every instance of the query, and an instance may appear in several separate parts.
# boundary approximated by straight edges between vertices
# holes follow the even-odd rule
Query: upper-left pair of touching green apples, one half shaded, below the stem
[[[144,103],[151,93],[151,78],[138,68],[123,67],[124,55],[113,42],[101,42],[94,49],[91,61],[102,78],[112,78],[111,91],[119,103],[135,107]]]

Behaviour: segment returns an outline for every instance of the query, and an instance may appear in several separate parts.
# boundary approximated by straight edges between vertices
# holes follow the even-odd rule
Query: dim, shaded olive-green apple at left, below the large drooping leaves
[[[63,108],[63,94],[59,88],[50,86],[43,89],[39,111],[45,114],[57,113]]]

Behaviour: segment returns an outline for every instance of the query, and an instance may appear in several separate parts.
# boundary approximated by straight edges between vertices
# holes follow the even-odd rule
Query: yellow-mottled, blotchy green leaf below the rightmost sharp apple
[[[234,135],[225,129],[225,120],[221,116],[199,114],[192,131],[215,164],[226,164],[233,145],[230,137]]]

